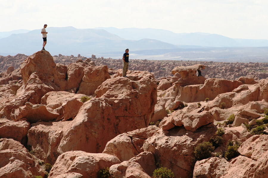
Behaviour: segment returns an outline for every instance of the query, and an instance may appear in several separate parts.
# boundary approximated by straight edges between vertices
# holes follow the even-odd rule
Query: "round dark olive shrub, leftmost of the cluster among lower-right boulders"
[[[194,156],[197,160],[211,157],[211,152],[215,147],[210,142],[202,142],[194,148]]]

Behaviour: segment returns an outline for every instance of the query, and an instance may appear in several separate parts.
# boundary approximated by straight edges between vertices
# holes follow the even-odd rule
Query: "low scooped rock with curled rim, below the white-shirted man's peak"
[[[38,121],[50,121],[59,117],[60,114],[49,110],[45,105],[32,104],[26,102],[25,106],[19,107],[13,110],[11,118],[15,121],[27,120],[30,123],[36,123]]]

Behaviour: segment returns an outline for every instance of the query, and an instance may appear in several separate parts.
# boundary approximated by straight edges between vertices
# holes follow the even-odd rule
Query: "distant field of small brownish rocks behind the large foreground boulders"
[[[1,56],[0,55],[0,72],[7,71],[7,68],[13,66],[17,69],[21,62],[24,61],[28,56],[24,54],[17,54],[15,56]],[[78,55],[75,57],[54,55],[53,59],[55,63],[61,63],[68,65],[74,63],[77,59],[86,60],[86,57]],[[90,60],[94,61],[97,66],[107,65],[108,68],[114,70],[122,69],[122,59],[112,58],[96,58],[92,55]],[[223,78],[227,80],[238,80],[239,77],[251,77],[254,80],[266,79],[268,77],[268,63],[230,63],[230,62],[213,62],[213,61],[173,61],[173,60],[130,60],[129,70],[148,71],[151,72],[157,80],[161,77],[172,76],[171,71],[176,66],[192,66],[195,64],[202,64],[208,67],[202,72],[205,78]]]

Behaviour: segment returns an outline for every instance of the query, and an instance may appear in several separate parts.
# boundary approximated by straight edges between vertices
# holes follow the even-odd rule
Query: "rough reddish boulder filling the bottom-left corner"
[[[0,139],[0,177],[44,176],[45,171],[28,150],[13,139]]]

